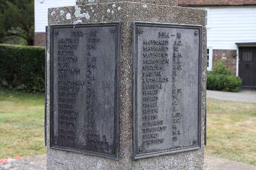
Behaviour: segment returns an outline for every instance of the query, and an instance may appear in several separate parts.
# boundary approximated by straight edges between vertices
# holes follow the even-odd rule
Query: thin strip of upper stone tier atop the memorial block
[[[134,2],[134,3],[145,3],[145,4],[157,4],[157,5],[171,5],[177,6],[177,0],[76,0],[76,5],[86,4],[103,4],[103,3],[120,3],[120,2]]]

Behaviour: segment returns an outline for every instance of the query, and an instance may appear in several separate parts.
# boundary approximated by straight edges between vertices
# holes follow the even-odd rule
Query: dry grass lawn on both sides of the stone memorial
[[[0,90],[0,159],[46,153],[44,94]],[[206,155],[256,165],[256,103],[207,99]]]

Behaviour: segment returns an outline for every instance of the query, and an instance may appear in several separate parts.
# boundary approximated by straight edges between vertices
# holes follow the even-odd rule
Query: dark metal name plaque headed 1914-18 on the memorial
[[[200,26],[135,22],[133,158],[200,148]]]

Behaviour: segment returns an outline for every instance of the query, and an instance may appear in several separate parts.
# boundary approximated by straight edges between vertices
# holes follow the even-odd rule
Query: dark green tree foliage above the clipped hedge
[[[34,44],[34,1],[0,0],[0,42],[20,37]]]

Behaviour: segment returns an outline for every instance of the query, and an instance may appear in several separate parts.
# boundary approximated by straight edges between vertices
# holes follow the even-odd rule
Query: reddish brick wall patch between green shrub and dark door
[[[232,71],[233,75],[236,75],[236,65],[237,65],[237,57],[233,56],[236,50],[213,50],[212,52],[212,62],[214,64],[217,60],[225,60],[225,64]]]

